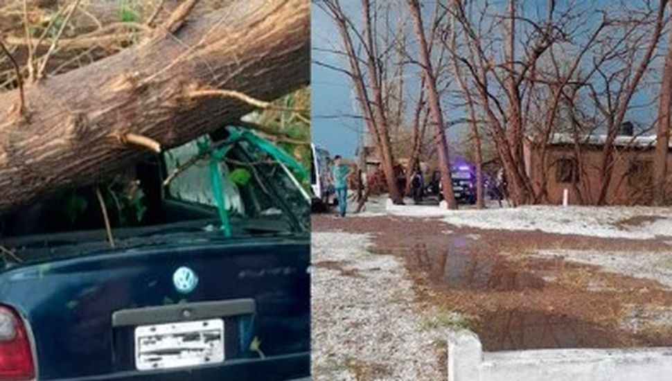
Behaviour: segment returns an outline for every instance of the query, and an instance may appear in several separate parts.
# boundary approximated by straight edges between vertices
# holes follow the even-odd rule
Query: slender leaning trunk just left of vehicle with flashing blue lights
[[[441,110],[441,100],[439,91],[436,89],[436,78],[434,78],[434,69],[432,69],[432,57],[427,48],[427,39],[425,39],[425,30],[423,29],[423,20],[420,14],[420,4],[417,0],[409,0],[411,16],[414,20],[416,36],[418,37],[418,50],[420,51],[420,62],[423,66],[425,86],[427,87],[427,101],[429,102],[430,112],[436,127],[436,152],[439,157],[439,172],[441,172],[441,185],[443,186],[443,200],[448,203],[448,209],[457,209],[455,195],[452,191],[452,175],[450,173],[450,155],[448,153],[448,141],[445,139],[445,123],[443,123],[443,112]]]

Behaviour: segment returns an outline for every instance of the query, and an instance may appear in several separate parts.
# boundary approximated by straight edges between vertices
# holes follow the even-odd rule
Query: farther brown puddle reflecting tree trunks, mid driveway
[[[541,276],[499,256],[477,255],[463,250],[465,246],[466,241],[454,240],[450,249],[432,255],[425,245],[417,245],[414,262],[429,272],[434,283],[450,289],[521,291],[538,290],[546,284]]]

